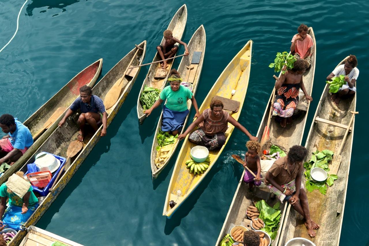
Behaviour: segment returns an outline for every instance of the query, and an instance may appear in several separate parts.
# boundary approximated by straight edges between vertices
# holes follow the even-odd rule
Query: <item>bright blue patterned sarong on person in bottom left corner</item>
[[[20,230],[20,225],[24,225],[24,223],[31,217],[32,213],[35,212],[37,207],[38,203],[36,203],[33,207],[28,208],[28,211],[22,214],[21,207],[8,204],[8,207],[6,208],[3,219],[1,221],[6,224],[6,228]]]

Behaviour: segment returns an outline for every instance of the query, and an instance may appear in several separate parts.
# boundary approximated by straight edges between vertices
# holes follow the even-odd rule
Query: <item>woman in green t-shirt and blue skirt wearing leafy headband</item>
[[[159,99],[144,113],[149,116],[152,110],[161,105],[164,100],[167,100],[163,106],[162,131],[175,136],[182,130],[184,121],[190,112],[187,108],[187,100],[192,101],[192,105],[196,110],[195,117],[199,117],[200,113],[191,90],[180,84],[182,79],[176,69],[170,70],[168,81],[170,85],[162,90]]]

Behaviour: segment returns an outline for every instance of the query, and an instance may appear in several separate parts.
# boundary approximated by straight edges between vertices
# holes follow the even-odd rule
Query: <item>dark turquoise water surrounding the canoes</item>
[[[0,3],[0,46],[16,28],[24,1]],[[104,58],[102,76],[134,44],[148,41],[146,62],[155,55],[162,31],[183,2],[118,0],[29,0],[14,40],[0,53],[0,112],[27,119],[87,65]],[[228,62],[252,39],[250,83],[239,121],[256,134],[273,86],[277,51],[288,50],[300,23],[314,28],[317,41],[315,82],[305,137],[325,78],[346,55],[358,57],[360,76],[355,139],[340,245],[368,245],[369,197],[364,192],[368,157],[365,94],[368,85],[367,1],[187,1],[183,40],[204,24],[206,56],[197,90],[201,104]],[[163,8],[163,6],[165,6]],[[181,47],[179,53],[183,53]],[[179,60],[176,60],[176,65]],[[136,102],[148,71],[143,67],[120,112],[82,167],[37,226],[83,245],[214,245],[228,212],[248,140],[235,130],[217,165],[168,220],[162,216],[175,158],[152,182],[150,149],[159,118],[156,110],[139,126]],[[194,111],[191,112],[194,115]],[[176,155],[179,148],[176,151]]]

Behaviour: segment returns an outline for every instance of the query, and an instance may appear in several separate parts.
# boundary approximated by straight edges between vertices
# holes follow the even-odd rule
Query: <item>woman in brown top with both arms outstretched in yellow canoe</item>
[[[200,117],[178,136],[178,139],[184,139],[198,125],[199,128],[189,136],[189,141],[205,146],[209,150],[221,148],[226,140],[224,133],[228,129],[228,122],[245,133],[250,140],[258,141],[257,137],[253,137],[245,127],[223,110],[223,103],[220,100],[212,100],[210,109],[205,109]]]

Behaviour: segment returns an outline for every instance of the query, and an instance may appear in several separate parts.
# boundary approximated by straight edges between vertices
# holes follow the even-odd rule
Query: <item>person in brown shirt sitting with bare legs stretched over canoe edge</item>
[[[281,202],[290,202],[292,208],[304,217],[308,234],[315,237],[314,230],[319,229],[319,225],[311,220],[309,204],[302,182],[306,154],[305,147],[292,146],[287,156],[279,158],[270,167],[265,175],[265,184]]]

